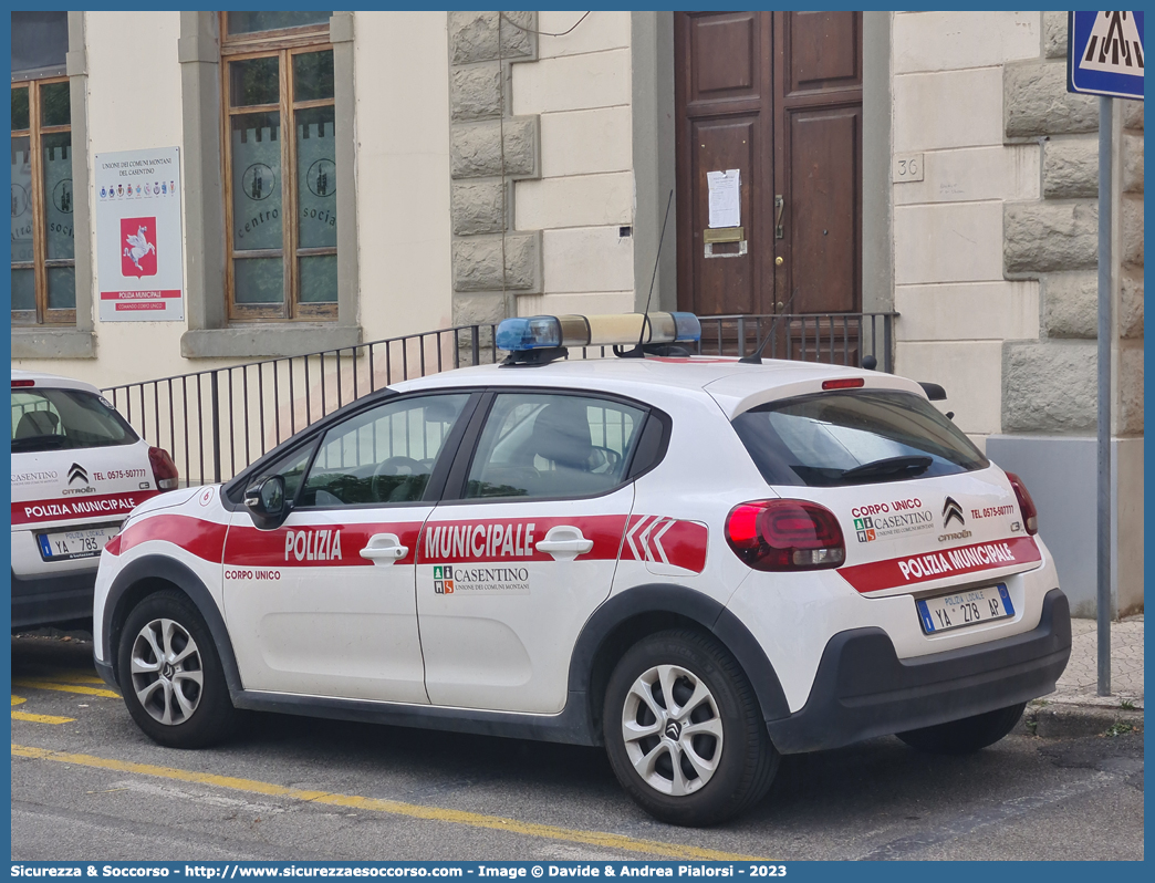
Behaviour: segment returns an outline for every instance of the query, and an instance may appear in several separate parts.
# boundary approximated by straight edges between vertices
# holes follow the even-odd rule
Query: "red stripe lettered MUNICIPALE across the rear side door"
[[[594,548],[576,561],[617,561],[626,515],[476,519],[434,521],[422,535],[420,564],[553,561],[535,547],[554,527],[576,527]]]

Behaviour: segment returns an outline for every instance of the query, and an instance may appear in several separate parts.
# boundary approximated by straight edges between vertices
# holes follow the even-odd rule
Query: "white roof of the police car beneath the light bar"
[[[655,401],[662,393],[706,394],[728,418],[775,399],[822,391],[822,381],[862,378],[865,388],[891,388],[925,398],[912,380],[879,371],[813,362],[736,357],[573,358],[544,365],[477,365],[393,384],[397,392],[459,386],[597,388]]]

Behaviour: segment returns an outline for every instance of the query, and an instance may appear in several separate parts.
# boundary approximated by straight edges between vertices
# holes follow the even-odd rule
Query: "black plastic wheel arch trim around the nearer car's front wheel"
[[[124,609],[125,595],[144,580],[170,583],[188,596],[188,600],[193,602],[204,619],[204,624],[208,625],[213,643],[216,644],[229,692],[231,695],[240,692],[243,689],[240,669],[237,667],[237,656],[232,650],[232,640],[229,638],[229,629],[224,624],[224,617],[221,615],[216,600],[201,578],[187,565],[163,555],[143,555],[126,564],[124,570],[112,580],[112,587],[104,602],[104,621],[100,623],[100,647],[112,671],[116,673],[119,655],[117,647],[113,646],[113,639],[119,637],[113,633],[114,628],[118,621],[122,624],[128,617],[128,611]]]

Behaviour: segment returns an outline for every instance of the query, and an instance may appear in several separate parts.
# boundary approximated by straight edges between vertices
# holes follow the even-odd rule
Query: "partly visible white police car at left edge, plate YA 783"
[[[92,615],[104,543],[134,506],[177,487],[149,447],[90,384],[12,372],[12,625]]]

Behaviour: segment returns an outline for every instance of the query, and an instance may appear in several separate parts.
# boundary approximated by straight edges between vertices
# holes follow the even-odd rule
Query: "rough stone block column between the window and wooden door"
[[[541,121],[513,114],[509,71],[537,58],[537,13],[452,12],[448,27],[453,321],[472,325],[542,291],[542,233],[515,232],[513,213],[514,181],[541,177]]]

